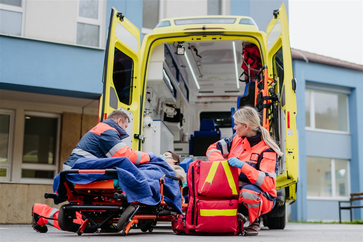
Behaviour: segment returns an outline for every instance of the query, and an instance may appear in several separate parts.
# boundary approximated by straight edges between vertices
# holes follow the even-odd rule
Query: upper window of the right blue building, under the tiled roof
[[[317,90],[305,90],[306,127],[349,132],[348,96]]]

